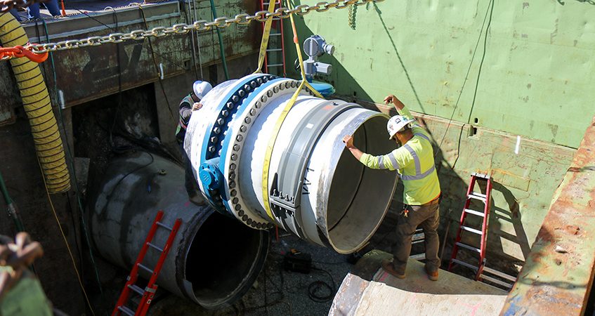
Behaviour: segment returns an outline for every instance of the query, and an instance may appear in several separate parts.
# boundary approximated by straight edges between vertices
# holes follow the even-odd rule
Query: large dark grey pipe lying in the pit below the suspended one
[[[100,254],[131,268],[157,211],[162,222],[182,219],[157,284],[205,308],[221,308],[254,284],[268,252],[269,235],[253,230],[209,206],[188,201],[183,169],[155,154],[138,152],[115,159],[91,191],[91,235]],[[164,246],[169,231],[157,230],[152,244]],[[154,267],[150,248],[143,265]],[[141,276],[150,275],[139,269]]]

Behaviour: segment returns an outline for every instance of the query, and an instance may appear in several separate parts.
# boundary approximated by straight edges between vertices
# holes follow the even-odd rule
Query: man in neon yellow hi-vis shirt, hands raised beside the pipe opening
[[[403,211],[397,223],[397,240],[393,245],[393,261],[383,261],[386,272],[405,278],[407,259],[411,252],[412,236],[418,226],[424,229],[426,265],[424,270],[429,279],[438,280],[438,220],[440,183],[434,166],[434,155],[429,134],[412,117],[411,112],[395,96],[387,96],[384,103],[393,103],[399,115],[388,120],[389,139],[400,147],[381,156],[372,156],[353,145],[353,136],[343,141],[348,150],[362,164],[371,169],[398,171],[403,180]]]

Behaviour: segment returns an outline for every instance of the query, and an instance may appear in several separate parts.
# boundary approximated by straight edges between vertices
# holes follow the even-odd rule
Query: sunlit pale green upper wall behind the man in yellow
[[[595,114],[594,4],[495,0],[490,14],[490,0],[386,0],[358,7],[355,29],[348,9],[296,25],[301,41],[320,34],[336,46],[322,61],[339,95],[395,93],[417,112],[576,148]]]

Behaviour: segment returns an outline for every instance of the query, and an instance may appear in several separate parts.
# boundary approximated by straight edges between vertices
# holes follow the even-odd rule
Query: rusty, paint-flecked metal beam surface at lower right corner
[[[595,118],[501,315],[582,315],[595,263]]]

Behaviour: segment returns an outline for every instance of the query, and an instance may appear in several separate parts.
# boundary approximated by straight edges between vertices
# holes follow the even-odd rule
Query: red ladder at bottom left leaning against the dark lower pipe
[[[160,220],[163,218],[163,211],[157,212],[157,216],[155,216],[155,220],[153,220],[153,224],[149,230],[147,238],[145,239],[145,244],[143,244],[143,248],[140,249],[138,253],[138,258],[136,258],[136,262],[134,263],[130,275],[126,277],[126,284],[124,284],[124,289],[122,289],[122,294],[118,298],[118,302],[116,303],[116,307],[112,312],[112,316],[116,315],[128,315],[128,316],[144,316],[147,314],[149,310],[149,305],[153,297],[155,296],[155,291],[157,291],[157,277],[159,276],[159,272],[163,267],[163,263],[167,254],[169,253],[169,249],[171,247],[171,243],[174,242],[174,237],[176,237],[176,233],[182,224],[182,220],[180,218],[176,219],[174,223],[174,227],[169,227],[162,223]],[[167,241],[163,248],[152,244],[152,239],[155,236],[155,232],[157,232],[158,228],[162,228],[165,230],[169,230],[169,237],[167,237]],[[157,260],[157,264],[155,265],[154,270],[151,270],[147,266],[143,265],[143,258],[145,258],[145,254],[147,253],[148,249],[152,248],[153,251],[159,251],[161,255],[159,256],[159,260]],[[151,274],[151,278],[145,289],[142,289],[136,285],[136,281],[138,279],[138,269],[143,269]],[[136,310],[132,310],[129,306],[126,306],[126,303],[129,301],[131,294],[136,294],[140,296],[140,303]]]

